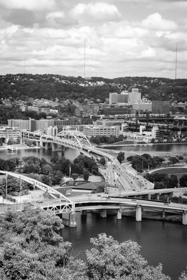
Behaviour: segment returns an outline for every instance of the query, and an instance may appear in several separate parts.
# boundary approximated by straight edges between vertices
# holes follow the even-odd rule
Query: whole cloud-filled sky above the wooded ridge
[[[0,74],[187,78],[187,1],[0,0]]]

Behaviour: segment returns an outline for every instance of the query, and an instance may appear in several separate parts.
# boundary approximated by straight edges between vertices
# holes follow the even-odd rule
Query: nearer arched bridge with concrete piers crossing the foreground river
[[[41,207],[44,210],[53,211],[55,214],[58,214],[63,218],[64,214],[68,214],[68,218],[63,218],[63,223],[69,225],[70,227],[75,227],[76,223],[76,213],[75,211],[81,211],[82,215],[86,215],[86,211],[91,210],[100,210],[100,216],[105,218],[107,214],[107,209],[116,209],[117,210],[117,219],[121,219],[121,212],[122,209],[136,209],[136,220],[141,221],[141,213],[142,209],[151,209],[162,211],[162,216],[165,216],[165,211],[169,211],[172,213],[178,213],[182,215],[182,223],[187,225],[187,205],[186,204],[176,204],[176,203],[167,203],[158,200],[146,200],[141,199],[141,195],[150,195],[150,193],[154,193],[159,195],[160,193],[164,192],[175,192],[183,190],[184,192],[187,191],[187,188],[174,188],[174,189],[162,189],[162,190],[137,190],[137,191],[123,191],[123,192],[113,192],[110,197],[104,195],[103,193],[99,194],[92,194],[91,196],[87,195],[80,195],[74,197],[66,197],[62,193],[54,190],[48,185],[41,183],[35,179],[29,178],[22,174],[17,174],[8,171],[0,171],[2,174],[6,174],[6,193],[7,193],[7,176],[13,176],[15,178],[20,179],[20,192],[21,192],[21,183],[22,180],[26,181],[35,187],[43,190],[46,192],[47,199],[42,204],[38,204],[33,202],[33,207]],[[49,194],[55,198],[49,199]],[[125,196],[125,197],[124,197]],[[127,197],[133,196],[133,197]],[[137,198],[137,196],[139,198]],[[158,197],[157,197],[158,198]],[[33,200],[34,197],[33,197]],[[0,213],[4,212],[8,208],[17,209],[18,211],[21,210],[23,204],[18,205],[11,205],[6,204],[6,206],[0,207]]]

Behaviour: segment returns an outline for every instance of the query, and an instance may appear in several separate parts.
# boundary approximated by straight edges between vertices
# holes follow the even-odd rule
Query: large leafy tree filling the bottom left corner
[[[24,205],[0,217],[1,279],[59,280],[68,263],[71,245],[60,237],[63,224],[52,212]]]

